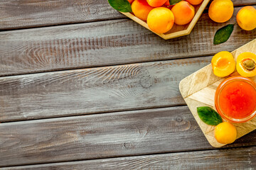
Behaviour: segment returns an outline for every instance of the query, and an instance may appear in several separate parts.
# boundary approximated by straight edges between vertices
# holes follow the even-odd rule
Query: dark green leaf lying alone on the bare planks
[[[229,24],[217,30],[214,35],[213,44],[218,45],[226,42],[234,30],[234,24]]]

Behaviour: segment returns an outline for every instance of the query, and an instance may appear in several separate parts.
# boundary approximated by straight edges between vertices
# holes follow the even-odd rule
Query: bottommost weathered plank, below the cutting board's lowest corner
[[[153,154],[139,157],[120,157],[56,164],[16,166],[2,170],[73,170],[73,169],[255,169],[256,147],[213,151]],[[224,163],[225,162],[225,163]]]

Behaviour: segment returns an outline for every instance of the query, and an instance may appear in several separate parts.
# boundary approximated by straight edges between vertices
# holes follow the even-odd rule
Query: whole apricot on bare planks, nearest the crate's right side
[[[233,16],[234,5],[230,0],[214,0],[209,7],[208,15],[216,23],[225,23]]]

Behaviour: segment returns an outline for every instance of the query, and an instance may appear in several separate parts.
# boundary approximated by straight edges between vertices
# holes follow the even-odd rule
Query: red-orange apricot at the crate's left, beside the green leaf
[[[146,21],[149,12],[153,9],[153,7],[149,6],[146,0],[135,0],[132,3],[132,12],[134,16],[140,18],[143,21]]]

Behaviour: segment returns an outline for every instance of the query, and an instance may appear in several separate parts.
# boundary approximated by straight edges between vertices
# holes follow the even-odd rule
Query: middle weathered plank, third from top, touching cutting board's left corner
[[[209,62],[199,57],[0,77],[0,122],[182,105],[178,83]]]

